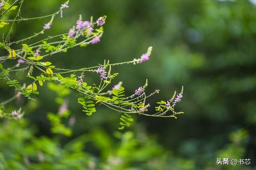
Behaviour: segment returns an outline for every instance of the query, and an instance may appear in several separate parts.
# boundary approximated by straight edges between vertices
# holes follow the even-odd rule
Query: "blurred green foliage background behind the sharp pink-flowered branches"
[[[58,10],[63,0],[24,1],[23,18]],[[95,170],[252,170],[256,163],[256,4],[253,0],[71,0],[44,35],[67,32],[79,14],[84,20],[107,16],[101,42],[76,47],[50,57],[58,68],[83,68],[139,58],[153,46],[150,60],[113,68],[126,94],[144,85],[147,92],[160,89],[148,100],[153,106],[168,100],[184,86],[176,110],[178,119],[134,117],[136,123],[118,130],[119,115],[99,106],[88,117],[76,94],[64,96],[76,117],[72,136],[50,132],[47,113],[57,113],[58,93],[39,89],[36,101],[19,98],[11,111],[26,111],[21,121],[1,120],[0,169]],[[255,3],[255,2],[254,2]],[[14,18],[15,12],[8,14]],[[50,18],[22,21],[14,26],[10,41],[42,29]],[[7,31],[7,26],[2,30]],[[2,35],[2,32],[1,32]],[[20,44],[14,47],[20,48]],[[15,49],[15,48],[14,48]],[[2,51],[2,49],[1,49]],[[1,52],[2,53],[2,52]],[[22,79],[25,73],[18,74]],[[97,80],[86,75],[86,82]],[[14,95],[0,81],[0,102]],[[68,125],[68,120],[64,120]],[[250,158],[250,165],[216,165],[217,158]],[[254,168],[253,168],[254,167]]]

